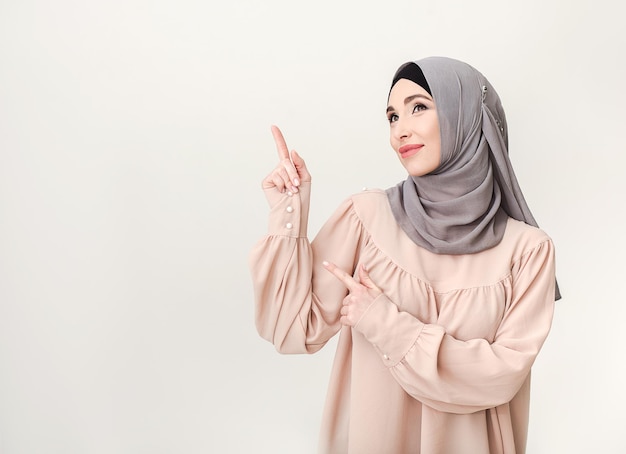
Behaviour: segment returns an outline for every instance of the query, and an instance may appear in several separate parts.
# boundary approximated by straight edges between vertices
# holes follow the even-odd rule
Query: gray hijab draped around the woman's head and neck
[[[451,58],[414,63],[437,106],[441,162],[433,172],[409,176],[387,190],[400,227],[437,254],[471,254],[496,246],[508,216],[537,227],[509,160],[506,117],[489,81]]]

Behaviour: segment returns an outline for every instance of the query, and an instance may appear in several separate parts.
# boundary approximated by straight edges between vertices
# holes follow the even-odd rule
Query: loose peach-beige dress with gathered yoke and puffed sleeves
[[[269,234],[250,267],[259,334],[281,353],[340,338],[323,415],[323,454],[524,453],[530,370],[552,322],[554,247],[509,219],[501,243],[433,254],[397,225],[384,191],[348,198],[307,239],[310,184],[266,191]],[[367,265],[383,290],[354,328],[346,288],[322,266]],[[296,451],[294,451],[296,452]]]

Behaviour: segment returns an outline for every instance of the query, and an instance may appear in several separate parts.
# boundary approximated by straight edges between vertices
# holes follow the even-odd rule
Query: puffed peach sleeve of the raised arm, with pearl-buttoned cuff
[[[347,199],[310,243],[310,183],[295,194],[267,190],[266,197],[269,231],[249,257],[256,328],[281,353],[313,353],[341,328],[339,310],[347,294],[322,261],[354,270],[361,225]]]

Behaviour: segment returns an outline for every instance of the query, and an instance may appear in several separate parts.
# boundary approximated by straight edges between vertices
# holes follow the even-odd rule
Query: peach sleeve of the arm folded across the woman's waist
[[[550,240],[513,265],[511,303],[495,339],[461,341],[443,326],[400,312],[384,294],[355,329],[379,351],[415,399],[444,412],[473,413],[510,402],[543,345],[554,309],[554,248]]]

